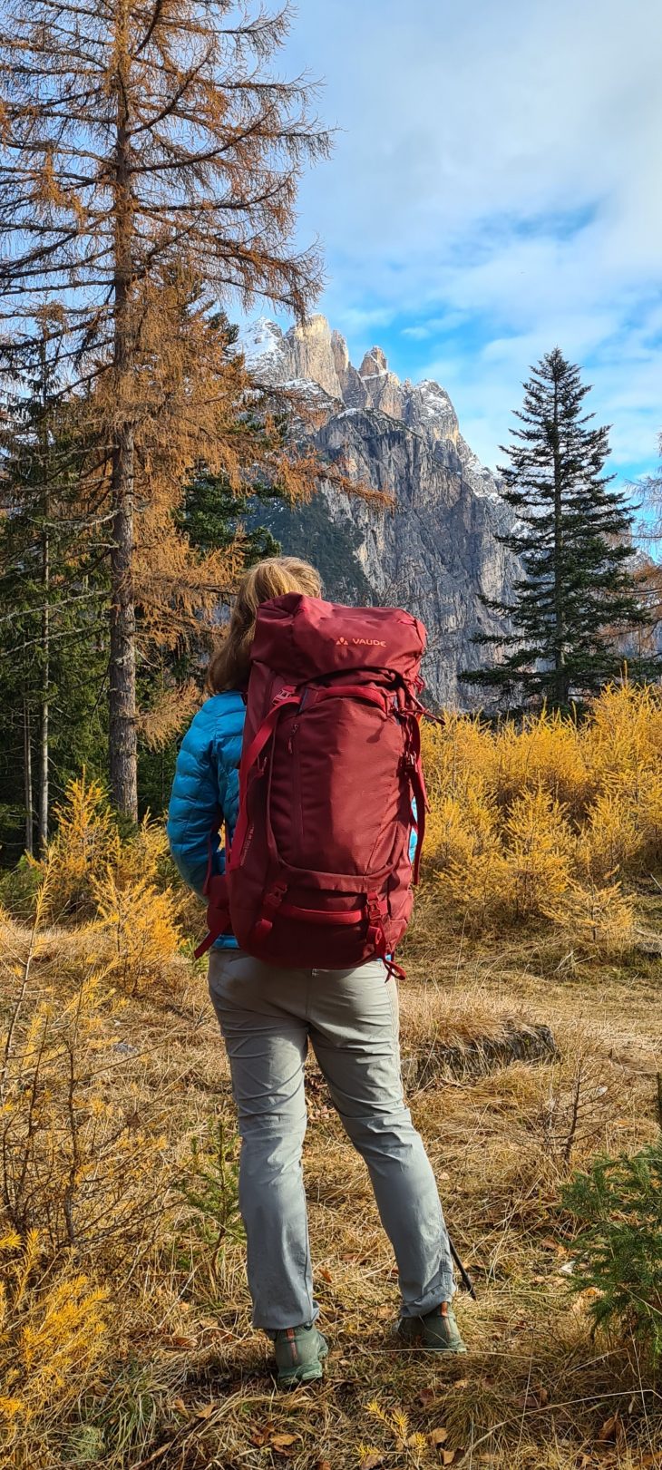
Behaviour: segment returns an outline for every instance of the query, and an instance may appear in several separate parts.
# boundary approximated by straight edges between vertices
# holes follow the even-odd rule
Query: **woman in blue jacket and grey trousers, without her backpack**
[[[257,609],[284,592],[321,597],[318,572],[269,557],[241,579],[227,638],[212,659],[210,698],[184,736],[168,835],[184,881],[202,895],[209,832],[238,811],[243,692]],[[222,872],[219,839],[213,863]],[[384,963],[355,970],[287,970],[216,941],[209,991],[229,1057],[241,1135],[240,1208],[247,1236],[253,1324],[275,1345],[278,1382],[322,1376],[302,1147],[303,1064],[310,1042],[334,1105],[363,1155],[400,1277],[400,1341],[465,1352],[452,1310],[453,1267],[434,1175],[405,1107],[397,989]]]

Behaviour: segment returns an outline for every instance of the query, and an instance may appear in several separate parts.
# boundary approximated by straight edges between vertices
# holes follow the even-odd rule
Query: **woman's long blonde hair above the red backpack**
[[[250,645],[255,638],[257,609],[284,592],[322,595],[322,579],[309,562],[296,556],[269,556],[244,572],[222,644],[207,669],[209,694],[241,689],[249,681]]]

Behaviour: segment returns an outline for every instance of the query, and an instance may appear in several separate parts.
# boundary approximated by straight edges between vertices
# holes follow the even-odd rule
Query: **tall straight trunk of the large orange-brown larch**
[[[110,791],[119,811],[138,817],[135,722],[135,604],[134,459],[135,432],[131,410],[134,370],[131,138],[128,119],[129,41],[125,0],[116,16],[116,141],[115,141],[115,341],[116,401],[124,407],[112,456],[113,547],[110,556]]]

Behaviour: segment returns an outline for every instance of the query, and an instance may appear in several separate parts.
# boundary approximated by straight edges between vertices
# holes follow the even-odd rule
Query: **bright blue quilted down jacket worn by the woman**
[[[238,764],[246,706],[240,694],[215,694],[197,711],[179,747],[168,811],[168,841],[188,888],[203,897],[212,842],[215,873],[225,867],[218,829],[232,838],[238,814]],[[237,941],[221,936],[216,950],[235,950]]]

